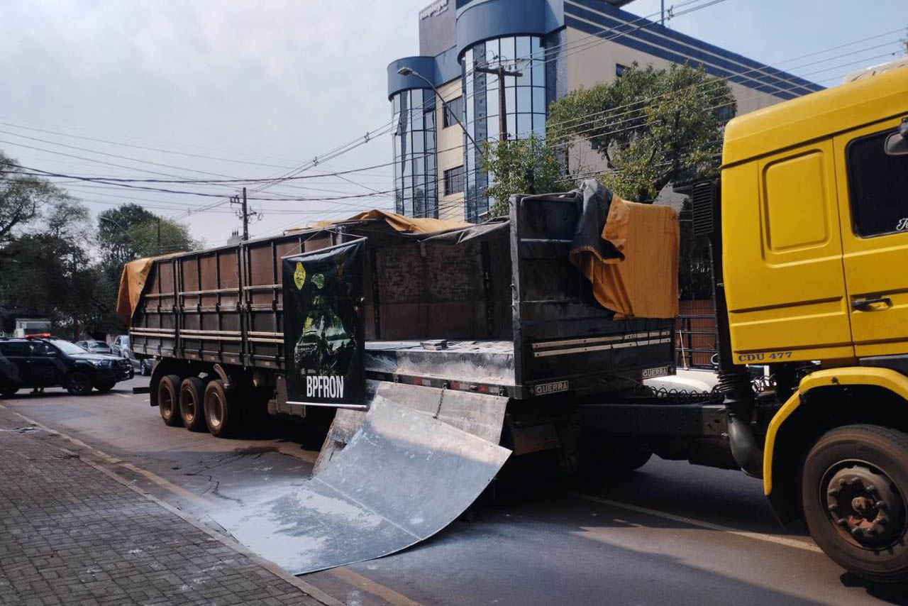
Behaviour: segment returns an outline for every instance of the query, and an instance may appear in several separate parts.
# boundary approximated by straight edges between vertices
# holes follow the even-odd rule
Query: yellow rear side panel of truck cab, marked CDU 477
[[[833,149],[830,138],[723,169],[735,363],[854,356]]]

